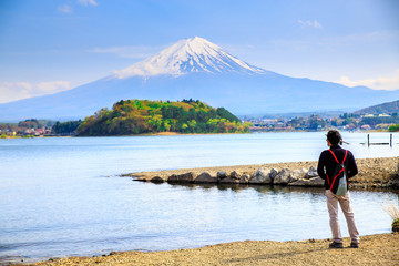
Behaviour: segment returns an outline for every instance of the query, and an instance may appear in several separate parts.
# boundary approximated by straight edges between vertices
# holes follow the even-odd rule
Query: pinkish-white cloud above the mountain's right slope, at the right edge
[[[336,82],[347,86],[364,85],[375,90],[399,90],[399,69],[388,78],[379,76],[377,79],[351,81],[348,76],[341,76]]]

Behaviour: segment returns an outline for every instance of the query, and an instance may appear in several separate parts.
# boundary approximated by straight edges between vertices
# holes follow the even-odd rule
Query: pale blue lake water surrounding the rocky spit
[[[345,133],[357,158],[399,156]],[[370,134],[389,142],[388,133]],[[324,133],[0,140],[0,260],[164,250],[245,239],[328,238],[323,188],[155,185],[120,174],[317,161]],[[361,235],[390,232],[397,192],[352,191]],[[347,236],[346,223],[341,229]]]

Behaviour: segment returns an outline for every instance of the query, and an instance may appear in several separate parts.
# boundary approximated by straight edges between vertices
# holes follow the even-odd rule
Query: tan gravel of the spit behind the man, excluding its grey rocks
[[[374,188],[399,188],[399,157],[380,157],[380,158],[358,158],[356,160],[358,165],[359,173],[350,178],[349,187],[350,188],[364,188],[364,190],[374,190]],[[306,177],[306,172],[310,170],[310,167],[316,168],[317,162],[291,162],[291,163],[273,163],[273,164],[254,164],[254,165],[236,165],[236,166],[217,166],[217,167],[198,167],[198,168],[182,168],[182,170],[168,170],[168,171],[152,171],[152,172],[139,172],[132,173],[124,176],[131,176],[135,181],[144,181],[144,182],[168,182],[171,181],[171,176],[185,175],[187,173],[192,173],[194,180],[188,181],[190,183],[195,183],[195,178],[200,176],[202,173],[208,173],[209,183],[217,183],[221,180],[217,178],[217,172],[225,172],[227,174],[226,177],[229,177],[231,173],[238,173],[238,177],[236,180],[229,180],[233,183],[239,183],[241,177],[246,175],[247,180],[244,184],[250,184],[250,177],[254,176],[257,170],[266,168],[272,170],[275,168],[277,173],[280,173],[282,170],[286,168],[289,171],[300,170],[301,176],[289,177],[291,181],[304,180]],[[316,176],[314,176],[316,177]],[[228,178],[226,178],[228,180]],[[314,178],[316,180],[316,178]],[[317,180],[316,180],[317,181]],[[187,182],[187,180],[183,180],[182,183]],[[178,183],[178,180],[174,178],[174,183]],[[204,182],[206,183],[206,182]],[[303,185],[303,186],[323,186],[323,182],[314,182],[314,183],[290,183],[288,185]],[[268,185],[268,184],[264,184]],[[287,184],[286,184],[287,185]]]

